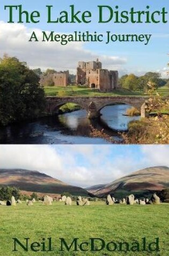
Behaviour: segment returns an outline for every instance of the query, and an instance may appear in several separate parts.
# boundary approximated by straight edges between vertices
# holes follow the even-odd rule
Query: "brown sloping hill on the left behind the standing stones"
[[[17,186],[20,190],[31,192],[52,194],[69,192],[74,196],[91,196],[89,192],[78,186],[71,186],[39,171],[23,169],[0,169],[1,186]]]

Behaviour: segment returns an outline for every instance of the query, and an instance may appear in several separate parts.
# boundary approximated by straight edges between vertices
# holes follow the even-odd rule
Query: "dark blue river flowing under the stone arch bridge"
[[[101,110],[99,120],[87,119],[86,110],[77,110],[57,116],[42,117],[38,120],[14,123],[1,127],[1,144],[107,144],[105,139],[91,137],[91,125],[113,139],[121,141],[118,131],[128,128],[131,120],[139,116],[124,116],[129,105],[106,106]]]

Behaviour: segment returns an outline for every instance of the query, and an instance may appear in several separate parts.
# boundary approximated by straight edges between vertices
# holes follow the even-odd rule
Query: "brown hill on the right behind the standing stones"
[[[87,191],[95,196],[105,196],[108,194],[116,197],[127,195],[129,193],[146,194],[150,191],[163,190],[169,188],[169,168],[168,167],[150,167],[135,171],[120,179],[116,179],[102,187],[90,187]],[[152,192],[151,192],[152,193]]]

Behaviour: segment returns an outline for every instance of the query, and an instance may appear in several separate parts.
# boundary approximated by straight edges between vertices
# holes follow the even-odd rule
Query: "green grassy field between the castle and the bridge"
[[[116,89],[111,93],[101,93],[97,89],[86,86],[44,86],[46,96],[144,96],[143,92],[130,92],[127,89]],[[158,93],[162,96],[169,95],[167,86],[160,87]]]

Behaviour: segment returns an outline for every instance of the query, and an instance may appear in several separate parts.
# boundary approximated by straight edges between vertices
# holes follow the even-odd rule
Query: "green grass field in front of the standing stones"
[[[75,202],[74,202],[75,204]],[[90,206],[65,206],[54,202],[45,206],[34,203],[33,206],[18,204],[17,206],[0,206],[0,255],[4,256],[43,256],[43,255],[169,255],[169,204],[161,205],[105,205],[104,202],[91,202]],[[40,242],[42,238],[52,238],[53,252],[25,252],[18,247],[13,250],[12,238],[24,243],[24,238],[30,242]],[[60,239],[67,243],[74,238],[79,242],[89,241],[89,238],[102,238],[110,241],[128,242],[135,240],[141,243],[142,238],[147,243],[159,237],[160,252],[60,252]],[[99,247],[99,245],[97,245]],[[95,248],[97,248],[97,246]]]

